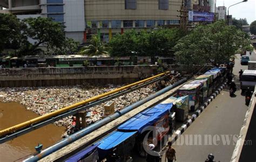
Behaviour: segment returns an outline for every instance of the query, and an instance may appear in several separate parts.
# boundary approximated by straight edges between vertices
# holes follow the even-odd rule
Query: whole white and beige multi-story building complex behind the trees
[[[206,0],[186,0],[187,4],[207,5]],[[186,2],[184,0],[184,2]],[[215,1],[215,0],[210,0]],[[18,18],[50,17],[66,26],[66,37],[86,41],[97,34],[108,41],[116,33],[130,29],[153,29],[179,24],[182,0],[0,0]]]

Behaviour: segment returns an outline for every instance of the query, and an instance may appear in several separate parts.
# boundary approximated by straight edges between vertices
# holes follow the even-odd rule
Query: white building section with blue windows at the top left
[[[82,43],[85,30],[84,0],[0,0],[0,13],[12,13],[19,19],[49,17],[64,23],[65,34]]]

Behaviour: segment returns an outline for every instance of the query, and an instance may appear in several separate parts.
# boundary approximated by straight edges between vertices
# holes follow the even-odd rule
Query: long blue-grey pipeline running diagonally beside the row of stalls
[[[104,119],[94,123],[94,124],[91,124],[90,126],[87,126],[86,128],[74,133],[73,135],[71,135],[70,137],[67,137],[63,140],[60,140],[60,142],[58,142],[57,144],[55,145],[52,145],[50,147],[48,147],[47,149],[43,150],[41,153],[35,155],[35,156],[32,156],[28,159],[25,159],[24,161],[38,161],[46,156],[48,156],[49,154],[61,149],[62,147],[72,143],[72,142],[75,142],[75,140],[79,139],[79,138],[82,138],[84,137],[85,135],[88,135],[89,133],[91,133],[92,131],[95,131],[97,130],[98,128],[104,126],[105,124],[107,123],[110,123],[111,121],[113,121],[114,119],[126,114],[127,112],[133,110],[134,108],[137,108],[139,107],[140,105],[152,100],[153,98],[156,98],[157,96],[160,96],[161,94],[164,94],[166,93],[167,91],[179,86],[180,84],[184,83],[185,81],[187,81],[187,78],[184,78],[184,79],[181,79],[179,80],[178,82],[168,86],[168,87],[165,87],[164,89],[161,89],[159,91],[157,91],[157,93],[154,93],[146,98],[144,98],[143,100],[140,100],[132,105],[130,105],[129,107],[126,107],[120,111],[117,111],[115,112],[114,114],[110,115],[110,116],[107,116],[105,117]]]

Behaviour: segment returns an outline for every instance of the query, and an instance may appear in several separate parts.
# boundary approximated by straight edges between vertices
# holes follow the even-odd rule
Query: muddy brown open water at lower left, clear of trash
[[[38,115],[26,110],[23,105],[17,102],[0,102],[0,130],[35,117]],[[38,143],[43,144],[43,148],[51,146],[62,139],[61,136],[64,131],[64,126],[50,124],[0,144],[0,161],[14,161],[35,153],[35,146]]]

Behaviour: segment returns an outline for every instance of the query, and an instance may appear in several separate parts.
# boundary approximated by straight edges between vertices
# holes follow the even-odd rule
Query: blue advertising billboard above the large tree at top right
[[[188,11],[188,21],[190,22],[213,22],[214,13]]]

